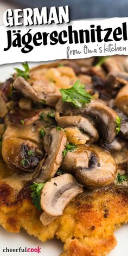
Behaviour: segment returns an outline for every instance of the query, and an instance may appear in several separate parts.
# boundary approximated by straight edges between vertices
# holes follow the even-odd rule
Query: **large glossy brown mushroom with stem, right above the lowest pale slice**
[[[117,174],[112,155],[96,145],[78,145],[78,149],[67,153],[60,169],[73,173],[76,181],[88,188],[109,185]]]

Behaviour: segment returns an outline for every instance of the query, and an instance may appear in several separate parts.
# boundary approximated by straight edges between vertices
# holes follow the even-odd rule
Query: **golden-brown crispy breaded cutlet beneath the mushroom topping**
[[[7,231],[18,233],[22,227],[43,242],[56,236],[65,243],[62,256],[106,255],[116,246],[113,232],[128,222],[126,192],[114,188],[85,191],[61,217],[44,227],[39,219],[42,212],[31,202],[29,184],[18,191],[10,187],[10,178],[0,182],[0,224]]]

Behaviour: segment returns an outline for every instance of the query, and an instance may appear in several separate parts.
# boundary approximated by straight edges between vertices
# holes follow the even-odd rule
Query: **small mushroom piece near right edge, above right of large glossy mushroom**
[[[124,148],[125,145],[125,140],[121,139],[118,136],[111,143],[105,143],[102,140],[100,142],[100,146],[109,151],[120,151],[121,149]]]

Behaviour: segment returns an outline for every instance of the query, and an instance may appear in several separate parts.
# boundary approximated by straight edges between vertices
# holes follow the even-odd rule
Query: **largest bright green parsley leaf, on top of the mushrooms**
[[[73,87],[68,89],[60,89],[62,100],[72,103],[75,107],[86,106],[93,97],[85,90],[85,85],[81,85],[80,81],[76,81]]]

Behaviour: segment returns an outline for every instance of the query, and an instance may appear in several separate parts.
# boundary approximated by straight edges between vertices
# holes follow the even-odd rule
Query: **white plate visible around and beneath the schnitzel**
[[[39,63],[40,64],[40,63]],[[30,67],[36,66],[37,63],[30,63]],[[21,64],[14,63],[10,65],[2,65],[0,66],[0,81],[4,81],[9,78],[9,74],[14,73],[14,67],[21,68]],[[127,256],[128,255],[128,227],[125,225],[121,227],[118,231],[115,232],[118,245],[114,250],[109,254],[109,256]],[[18,252],[3,252],[3,249],[8,247],[9,249],[16,248],[37,248],[37,246],[41,247],[41,253],[18,253]],[[27,255],[41,255],[41,256],[59,256],[62,252],[62,242],[53,239],[45,242],[44,244],[34,238],[33,236],[29,236],[25,231],[21,231],[19,234],[12,234],[5,231],[2,227],[0,227],[0,255],[1,256],[27,256]]]

